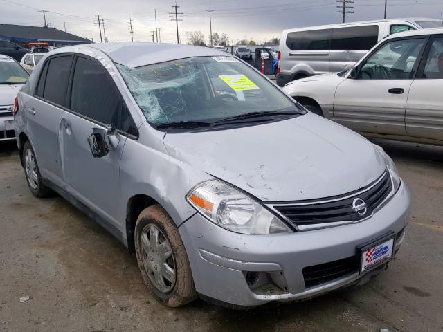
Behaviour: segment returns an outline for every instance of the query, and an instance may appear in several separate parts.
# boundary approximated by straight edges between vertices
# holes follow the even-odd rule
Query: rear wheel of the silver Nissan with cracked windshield
[[[37,159],[35,158],[33,147],[30,146],[28,140],[23,145],[23,160],[26,182],[30,192],[39,198],[52,196],[53,191],[42,182]]]

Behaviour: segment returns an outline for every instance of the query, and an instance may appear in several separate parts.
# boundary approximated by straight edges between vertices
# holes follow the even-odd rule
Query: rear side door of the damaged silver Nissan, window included
[[[64,53],[46,60],[33,91],[24,104],[26,130],[42,177],[62,186],[60,119],[66,107],[66,91],[73,55]]]

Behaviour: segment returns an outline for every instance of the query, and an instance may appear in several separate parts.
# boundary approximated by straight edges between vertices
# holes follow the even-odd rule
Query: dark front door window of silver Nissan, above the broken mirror
[[[101,64],[78,57],[75,64],[71,110],[102,124],[136,134],[136,127],[120,91]]]

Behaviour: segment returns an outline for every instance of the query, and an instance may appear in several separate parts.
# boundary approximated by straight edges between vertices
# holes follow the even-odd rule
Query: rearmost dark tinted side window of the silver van
[[[329,50],[331,30],[310,30],[288,33],[286,45],[291,50]]]

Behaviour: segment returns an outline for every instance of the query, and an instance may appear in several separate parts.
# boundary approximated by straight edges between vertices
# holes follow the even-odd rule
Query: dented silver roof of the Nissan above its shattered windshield
[[[51,53],[87,53],[91,49],[100,50],[105,53],[112,61],[117,64],[123,64],[129,68],[146,66],[148,64],[158,64],[160,62],[173,61],[177,59],[185,59],[186,57],[207,57],[207,56],[224,56],[226,52],[210,47],[181,45],[181,44],[156,44],[141,42],[118,42],[103,44],[84,44],[75,46],[66,46],[53,50]]]

